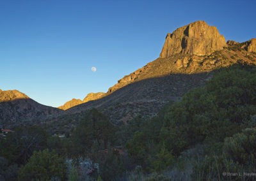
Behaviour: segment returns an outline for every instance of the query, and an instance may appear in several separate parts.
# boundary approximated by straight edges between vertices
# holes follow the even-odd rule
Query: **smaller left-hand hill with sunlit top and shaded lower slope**
[[[62,110],[45,106],[30,99],[17,90],[2,91],[0,89],[0,126],[19,126],[24,122],[35,122],[60,113]]]

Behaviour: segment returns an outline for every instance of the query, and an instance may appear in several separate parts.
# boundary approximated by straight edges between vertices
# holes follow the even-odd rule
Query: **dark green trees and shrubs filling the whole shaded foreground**
[[[115,126],[92,109],[65,138],[17,128],[0,180],[253,180],[255,115],[256,71],[238,62],[150,120]]]

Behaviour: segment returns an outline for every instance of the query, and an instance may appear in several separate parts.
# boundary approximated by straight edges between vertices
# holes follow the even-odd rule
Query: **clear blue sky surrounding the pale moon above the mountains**
[[[166,33],[196,20],[226,40],[256,38],[255,2],[1,0],[0,89],[49,106],[106,92],[159,57]]]

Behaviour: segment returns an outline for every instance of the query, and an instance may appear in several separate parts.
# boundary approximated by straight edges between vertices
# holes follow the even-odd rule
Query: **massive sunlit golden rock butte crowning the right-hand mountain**
[[[204,21],[193,22],[168,33],[160,57],[174,54],[209,55],[227,47],[224,36],[218,29]]]

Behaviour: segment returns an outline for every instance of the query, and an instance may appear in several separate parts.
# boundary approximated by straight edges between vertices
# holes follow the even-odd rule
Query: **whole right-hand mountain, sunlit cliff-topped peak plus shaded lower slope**
[[[216,27],[194,22],[168,34],[160,57],[118,80],[104,98],[74,106],[63,114],[95,107],[116,123],[138,115],[152,117],[168,101],[179,101],[189,89],[204,86],[215,69],[237,61],[255,64],[255,44],[254,38],[225,43]]]

